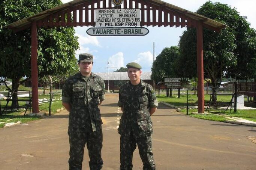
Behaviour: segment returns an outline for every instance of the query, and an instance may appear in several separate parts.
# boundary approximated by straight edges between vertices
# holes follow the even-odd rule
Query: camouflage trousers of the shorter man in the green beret
[[[143,163],[143,170],[156,170],[152,152],[151,134],[134,137],[131,133],[120,137],[120,170],[132,170],[132,155],[138,145],[139,155]]]

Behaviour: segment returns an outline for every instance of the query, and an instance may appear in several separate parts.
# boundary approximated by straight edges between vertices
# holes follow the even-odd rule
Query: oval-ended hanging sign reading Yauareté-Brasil
[[[144,27],[94,27],[86,32],[92,36],[143,36],[147,35],[149,30]]]

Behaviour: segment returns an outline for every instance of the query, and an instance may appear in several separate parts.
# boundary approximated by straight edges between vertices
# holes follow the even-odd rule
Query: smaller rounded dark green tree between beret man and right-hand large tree
[[[155,81],[164,81],[165,78],[177,77],[175,67],[179,56],[177,46],[165,47],[153,62],[151,78]]]

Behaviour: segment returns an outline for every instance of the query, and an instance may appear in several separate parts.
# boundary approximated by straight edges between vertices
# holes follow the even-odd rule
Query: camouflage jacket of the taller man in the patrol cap
[[[105,100],[105,83],[91,73],[88,80],[81,73],[70,77],[62,90],[62,102],[69,103],[69,126],[96,131],[102,124],[99,102]]]

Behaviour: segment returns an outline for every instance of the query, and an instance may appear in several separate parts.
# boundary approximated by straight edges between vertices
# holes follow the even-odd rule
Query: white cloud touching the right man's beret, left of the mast
[[[134,62],[139,63],[142,69],[148,70],[153,64],[153,54],[150,51],[139,53],[138,59],[136,59]]]

